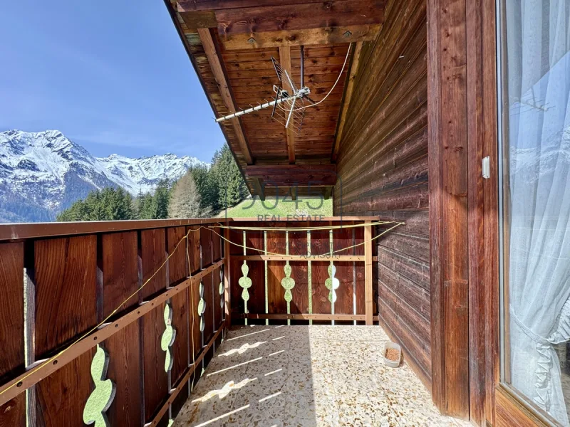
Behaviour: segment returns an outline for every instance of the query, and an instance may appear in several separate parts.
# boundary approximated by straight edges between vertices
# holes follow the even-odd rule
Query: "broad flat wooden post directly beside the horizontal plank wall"
[[[432,399],[448,416],[470,416],[469,348],[469,126],[482,126],[469,115],[482,97],[471,95],[479,83],[467,68],[467,0],[427,1],[427,138],[430,195],[430,285]],[[471,57],[471,58],[470,58]],[[477,159],[480,164],[481,159]],[[476,349],[475,354],[480,354]]]

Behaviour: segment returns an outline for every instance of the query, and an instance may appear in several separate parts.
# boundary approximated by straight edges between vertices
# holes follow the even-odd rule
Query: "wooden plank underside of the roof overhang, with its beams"
[[[266,196],[277,190],[264,188],[264,178],[248,174],[247,165],[331,164],[346,96],[350,60],[344,68],[343,63],[348,45],[375,38],[383,23],[385,0],[167,3],[216,117],[271,100],[273,85],[279,83],[271,56],[290,70],[299,86],[300,45],[305,45],[304,84],[311,90],[311,99],[320,102],[331,92],[326,100],[305,109],[298,135],[272,120],[271,109],[220,123],[252,194]],[[274,173],[278,170],[286,176],[279,168]],[[318,191],[330,193],[326,188]],[[307,193],[307,189],[296,191]]]

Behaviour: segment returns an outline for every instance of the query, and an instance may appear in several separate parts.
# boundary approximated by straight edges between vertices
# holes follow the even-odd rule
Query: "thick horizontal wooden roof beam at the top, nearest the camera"
[[[181,0],[190,29],[217,27],[227,49],[373,40],[385,0]]]

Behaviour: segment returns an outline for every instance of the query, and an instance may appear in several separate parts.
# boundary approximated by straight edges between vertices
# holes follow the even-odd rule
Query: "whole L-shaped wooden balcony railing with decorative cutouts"
[[[374,219],[1,225],[0,426],[167,426],[232,323],[371,324]]]

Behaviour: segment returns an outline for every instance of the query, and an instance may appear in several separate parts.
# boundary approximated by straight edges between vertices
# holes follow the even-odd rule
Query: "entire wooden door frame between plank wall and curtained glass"
[[[477,426],[499,383],[495,4],[427,0],[432,398]]]

